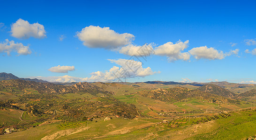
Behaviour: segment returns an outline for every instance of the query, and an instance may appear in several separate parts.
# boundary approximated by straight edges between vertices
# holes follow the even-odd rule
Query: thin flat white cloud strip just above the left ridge
[[[85,82],[88,78],[80,78],[80,77],[71,77],[68,75],[61,76],[61,77],[29,77],[29,78],[37,78],[42,79],[48,82],[61,82],[61,83],[70,83],[70,82]]]

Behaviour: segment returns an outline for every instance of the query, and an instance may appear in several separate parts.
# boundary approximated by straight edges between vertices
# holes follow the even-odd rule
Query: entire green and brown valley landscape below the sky
[[[221,86],[219,86],[221,85]],[[256,85],[0,81],[0,139],[247,139]],[[243,93],[233,91],[244,91]],[[110,117],[109,120],[104,120]],[[7,129],[13,130],[7,134]],[[237,131],[249,133],[236,133]]]

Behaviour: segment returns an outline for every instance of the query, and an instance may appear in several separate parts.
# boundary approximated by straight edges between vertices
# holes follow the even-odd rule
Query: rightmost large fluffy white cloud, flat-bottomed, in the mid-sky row
[[[192,56],[194,56],[196,59],[223,59],[225,58],[225,55],[223,54],[223,51],[218,51],[214,48],[207,48],[206,46],[203,47],[196,47],[193,49],[190,49],[188,51]]]

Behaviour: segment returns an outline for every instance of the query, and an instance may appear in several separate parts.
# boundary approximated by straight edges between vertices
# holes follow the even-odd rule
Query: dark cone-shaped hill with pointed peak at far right
[[[228,91],[216,84],[205,84],[199,87],[197,90],[208,92],[211,94],[216,94],[218,96],[226,97],[226,98],[235,98],[236,94]]]

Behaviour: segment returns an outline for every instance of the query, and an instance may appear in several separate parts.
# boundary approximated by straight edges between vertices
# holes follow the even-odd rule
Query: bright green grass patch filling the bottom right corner
[[[241,140],[256,134],[256,110],[231,113],[231,117],[217,119],[218,128],[200,134],[193,139],[203,140]]]

